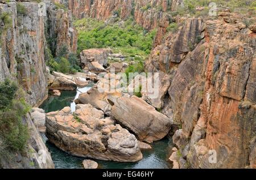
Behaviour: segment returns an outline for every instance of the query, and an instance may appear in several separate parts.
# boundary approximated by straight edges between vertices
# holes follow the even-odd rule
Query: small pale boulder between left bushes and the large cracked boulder
[[[46,132],[46,113],[43,109],[32,108],[31,118],[39,132]]]

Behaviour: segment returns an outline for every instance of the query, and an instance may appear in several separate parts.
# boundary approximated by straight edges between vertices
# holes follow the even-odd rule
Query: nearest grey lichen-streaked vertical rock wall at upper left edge
[[[38,15],[37,3],[20,3],[26,8],[26,14],[22,16],[16,14],[15,1],[0,2],[0,14],[7,12],[13,19],[10,28],[2,31],[1,27],[0,30],[0,81],[5,78],[17,80],[26,92],[26,101],[37,106],[48,95],[44,62],[44,19]]]

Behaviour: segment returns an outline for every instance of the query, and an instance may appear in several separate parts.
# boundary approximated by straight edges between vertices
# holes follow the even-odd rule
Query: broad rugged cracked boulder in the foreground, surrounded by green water
[[[134,162],[141,160],[138,140],[101,110],[92,105],[66,107],[46,117],[47,138],[57,147],[75,156]]]

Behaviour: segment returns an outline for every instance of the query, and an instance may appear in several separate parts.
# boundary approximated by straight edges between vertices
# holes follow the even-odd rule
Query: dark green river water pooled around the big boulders
[[[40,108],[44,109],[46,113],[48,113],[63,109],[65,106],[71,106],[71,109],[74,111],[75,103],[73,100],[79,97],[81,92],[88,91],[91,86],[78,89],[79,91],[62,91],[60,97],[50,95],[48,99],[40,106]],[[49,152],[51,152],[52,160],[56,169],[83,168],[82,161],[85,158],[68,155],[50,143],[44,134],[42,134],[42,136],[46,142]],[[151,150],[142,151],[143,159],[138,162],[94,161],[98,162],[99,167],[104,169],[167,169],[171,168],[171,164],[167,161],[168,157],[170,157],[170,149],[172,149],[172,141],[165,138],[153,143]]]

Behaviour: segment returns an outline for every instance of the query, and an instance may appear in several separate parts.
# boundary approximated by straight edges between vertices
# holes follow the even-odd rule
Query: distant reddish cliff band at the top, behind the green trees
[[[136,23],[148,31],[158,28],[155,45],[159,45],[166,28],[171,22],[167,12],[175,11],[183,0],[53,0],[66,5],[76,18],[96,18],[107,20],[132,16]]]

